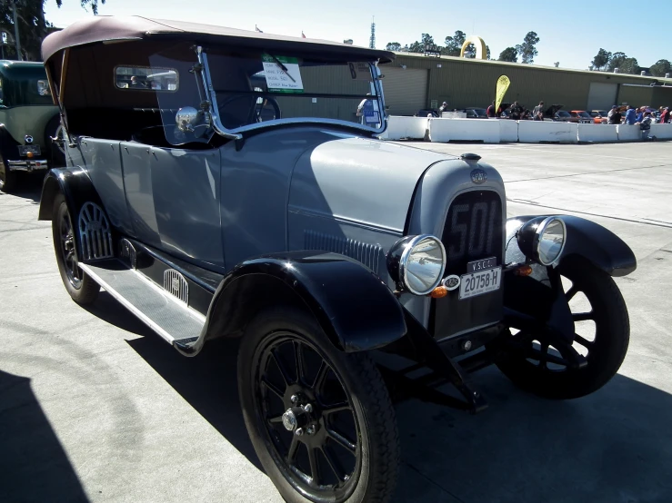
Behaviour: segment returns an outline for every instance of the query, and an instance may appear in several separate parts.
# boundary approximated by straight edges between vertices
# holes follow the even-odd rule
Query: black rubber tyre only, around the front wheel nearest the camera
[[[253,356],[257,346],[276,330],[301,334],[324,352],[351,393],[357,416],[366,424],[366,428],[360,425],[360,441],[363,442],[362,471],[357,487],[347,498],[347,503],[389,501],[398,477],[399,435],[395,409],[380,372],[366,353],[345,353],[336,349],[312,316],[291,307],[260,312],[246,329],[238,353],[238,393],[243,416],[256,455],[266,469],[266,474],[289,503],[310,501],[286,481],[266,449],[264,433],[257,429]]]

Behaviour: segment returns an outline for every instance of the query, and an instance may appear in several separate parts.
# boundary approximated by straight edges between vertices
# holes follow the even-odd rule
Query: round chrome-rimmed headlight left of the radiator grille
[[[416,295],[433,291],[446,269],[446,250],[434,236],[406,236],[387,253],[387,270],[401,288]]]

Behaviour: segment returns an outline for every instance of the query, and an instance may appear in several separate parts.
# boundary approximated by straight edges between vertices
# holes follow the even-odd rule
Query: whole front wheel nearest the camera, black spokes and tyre
[[[303,311],[265,311],[241,344],[238,387],[256,453],[287,501],[389,500],[396,420],[365,354],[337,350]]]

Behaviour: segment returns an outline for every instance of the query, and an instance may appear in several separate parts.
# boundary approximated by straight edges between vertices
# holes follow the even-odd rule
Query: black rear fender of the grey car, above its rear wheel
[[[40,210],[37,220],[52,220],[54,212],[54,200],[57,194],[63,193],[68,212],[76,226],[76,218],[85,202],[95,202],[105,212],[105,206],[95,191],[94,183],[91,182],[88,173],[79,166],[69,168],[55,168],[46,173],[45,182],[42,184],[40,196]],[[105,218],[107,215],[105,214]],[[75,244],[80,257],[84,255],[79,232],[75,232]]]

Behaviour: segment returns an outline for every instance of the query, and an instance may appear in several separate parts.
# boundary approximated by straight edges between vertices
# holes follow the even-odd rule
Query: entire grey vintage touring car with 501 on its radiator
[[[393,400],[480,411],[466,376],[490,364],[553,399],[617,372],[633,253],[575,216],[507,219],[475,154],[379,140],[394,54],[104,16],[43,54],[68,146],[39,218],[65,289],[104,288],[186,356],[240,338],[287,501],[393,498]]]

